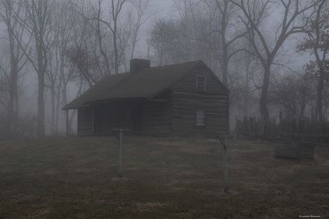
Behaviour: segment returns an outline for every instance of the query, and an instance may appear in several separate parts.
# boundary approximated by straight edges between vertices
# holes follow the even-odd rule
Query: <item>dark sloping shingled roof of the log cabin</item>
[[[99,100],[124,98],[151,98],[174,85],[202,61],[150,67],[136,73],[118,73],[107,76],[87,89],[63,109],[75,109]]]

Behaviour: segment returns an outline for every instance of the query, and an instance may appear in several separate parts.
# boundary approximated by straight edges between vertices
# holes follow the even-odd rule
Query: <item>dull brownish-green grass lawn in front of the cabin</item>
[[[115,137],[0,143],[0,218],[329,217],[329,146],[314,161],[278,159],[262,141],[228,149],[222,191],[214,139]]]

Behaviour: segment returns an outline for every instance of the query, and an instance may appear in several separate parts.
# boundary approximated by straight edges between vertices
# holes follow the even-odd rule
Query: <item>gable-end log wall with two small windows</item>
[[[205,91],[196,89],[196,76],[204,76]],[[180,80],[172,91],[172,132],[182,136],[208,136],[227,134],[228,92],[216,78],[196,69]],[[205,109],[205,126],[196,126],[196,110]]]

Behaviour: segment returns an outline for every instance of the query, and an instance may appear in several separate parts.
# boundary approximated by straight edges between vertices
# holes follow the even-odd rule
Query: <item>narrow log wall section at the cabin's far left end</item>
[[[90,135],[92,133],[92,107],[78,108],[78,135]]]

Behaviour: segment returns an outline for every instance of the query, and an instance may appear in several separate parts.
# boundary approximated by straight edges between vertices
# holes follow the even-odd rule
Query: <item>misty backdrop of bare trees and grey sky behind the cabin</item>
[[[262,134],[279,111],[297,123],[328,121],[326,0],[177,0],[169,6],[175,16],[160,18],[155,4],[0,0],[0,137],[62,134],[61,108],[104,76],[128,71],[131,58],[153,66],[203,60],[230,89],[231,124],[257,116]],[[310,61],[296,69],[287,48]]]

